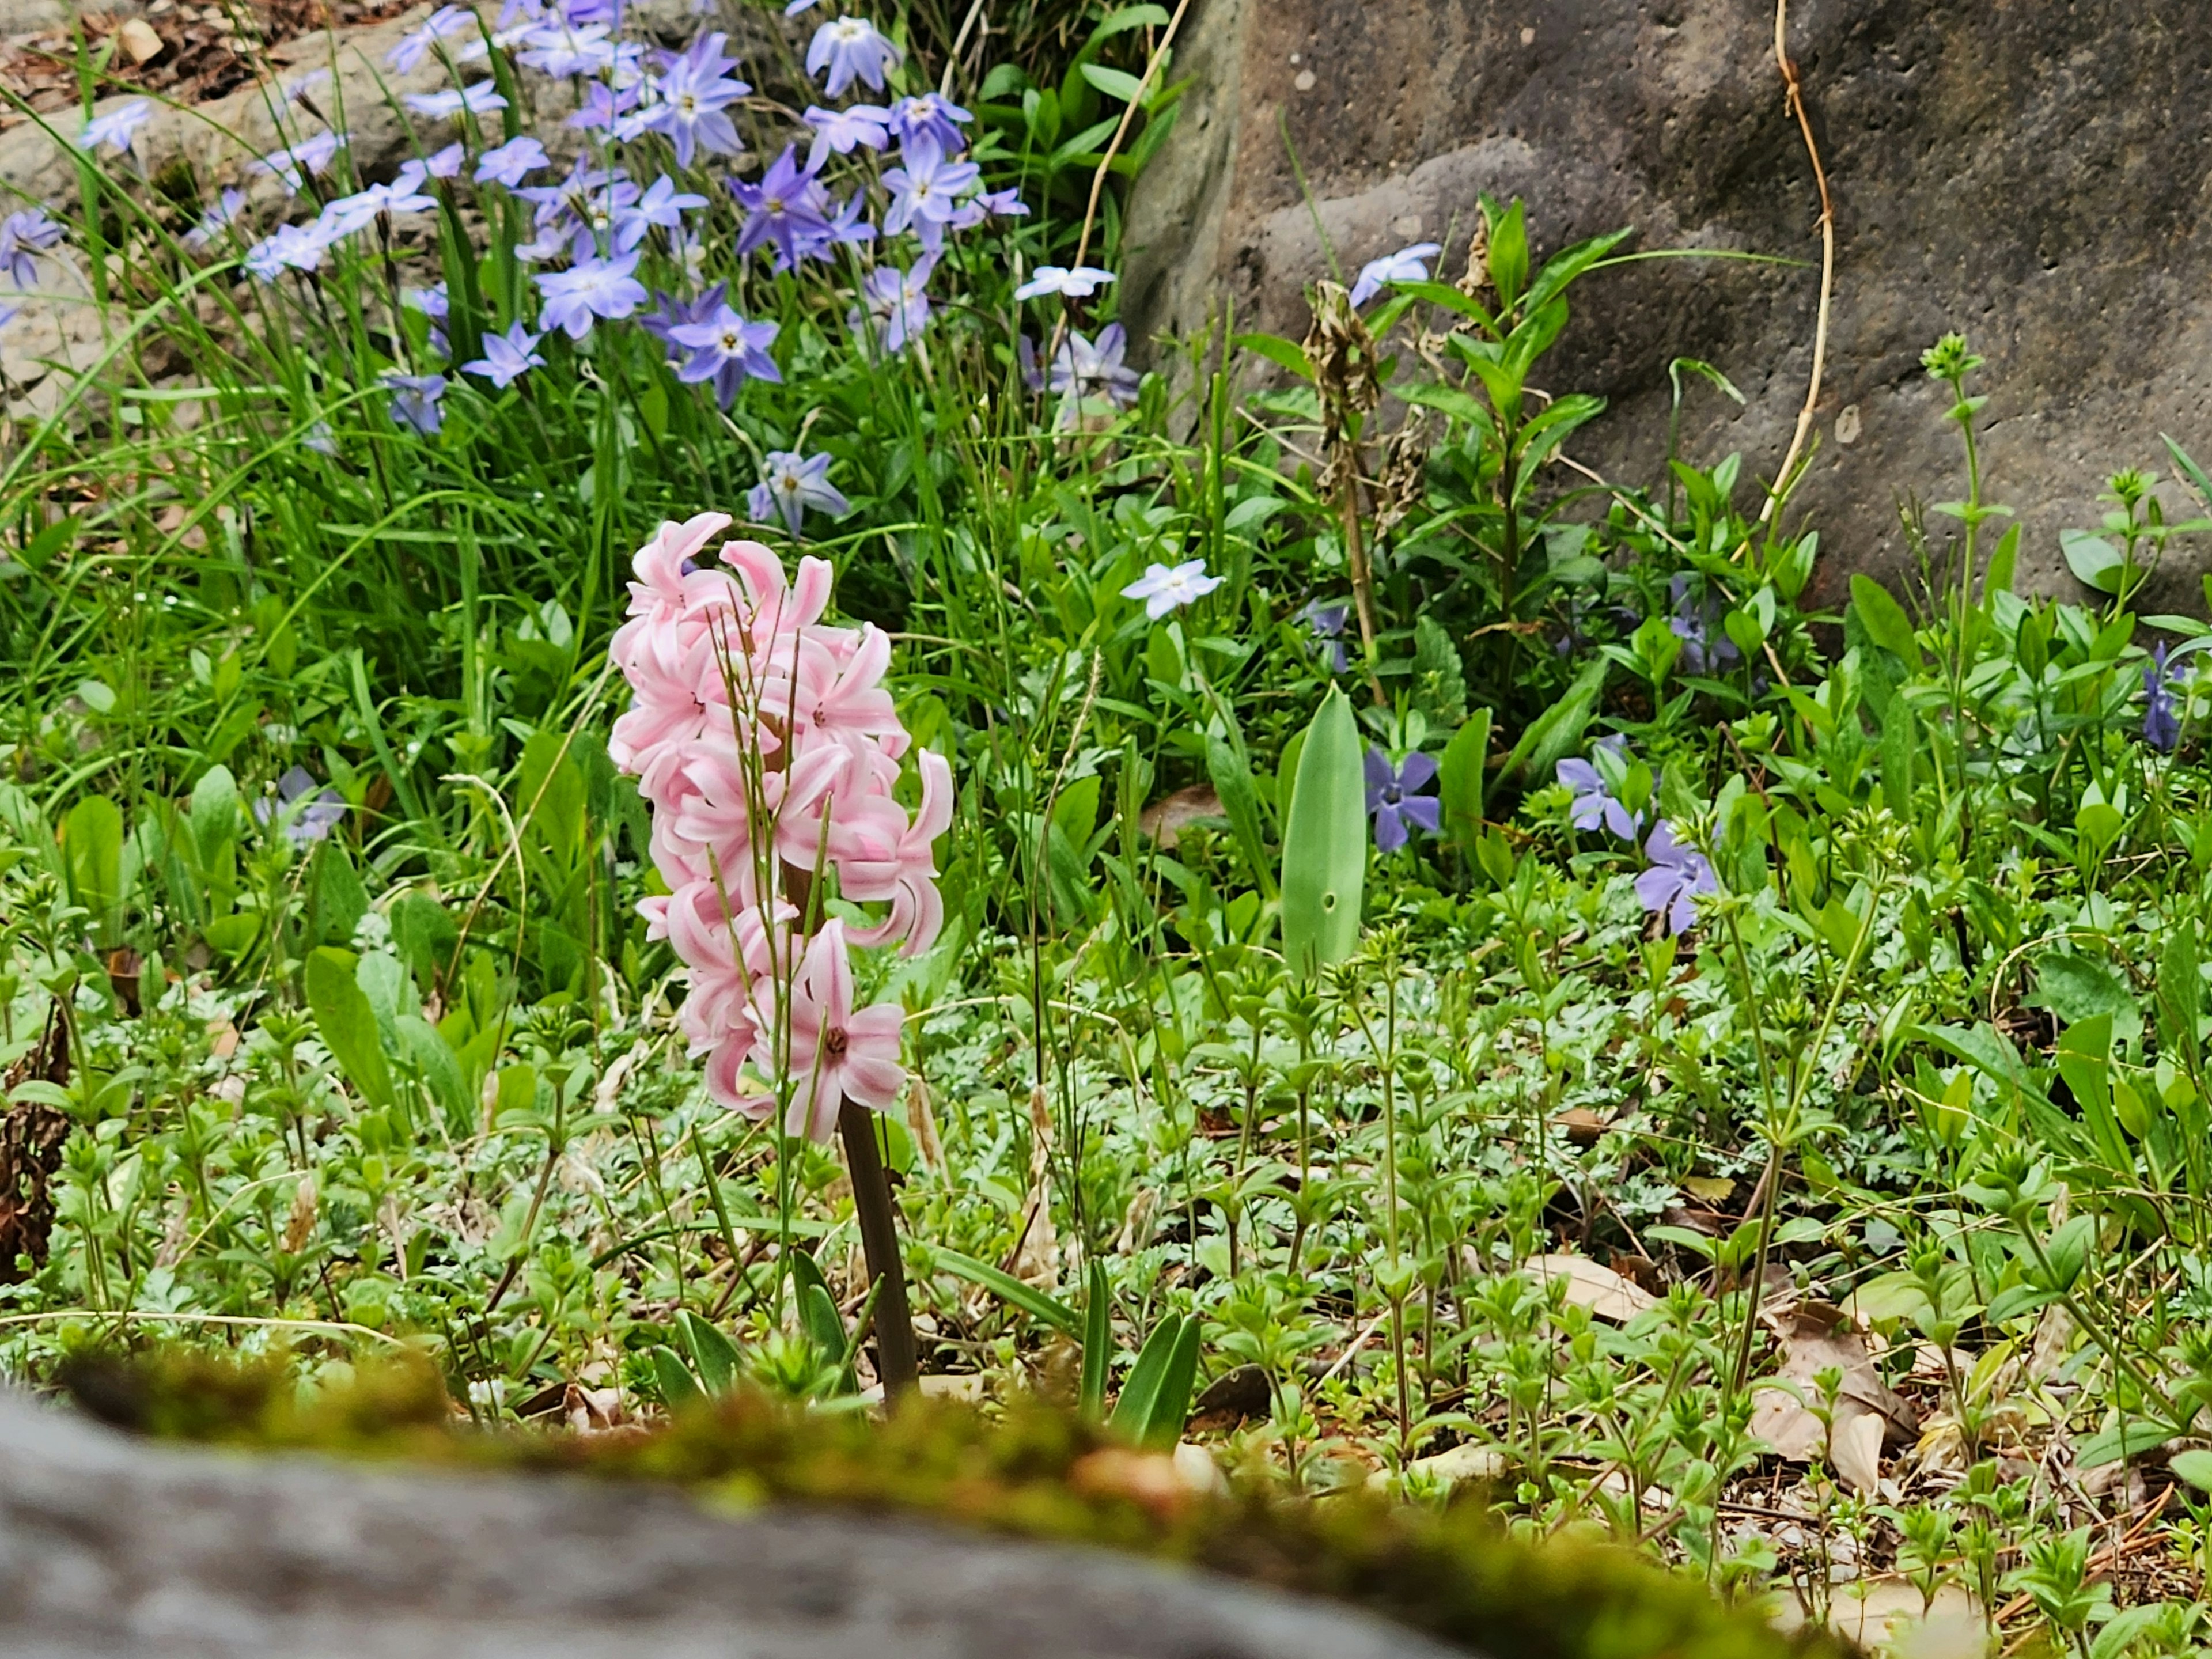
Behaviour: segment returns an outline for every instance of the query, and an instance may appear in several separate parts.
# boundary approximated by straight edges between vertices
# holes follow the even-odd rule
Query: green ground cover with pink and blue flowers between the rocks
[[[1918,580],[1820,611],[1790,476],[1593,478],[1535,389],[1628,232],[1482,201],[1139,376],[1179,13],[794,11],[445,7],[409,155],[270,80],[252,195],[113,38],[29,111],[0,263],[111,332],[0,473],[7,1369],[1042,1391],[2192,1648],[2188,449],[2020,595],[1938,341]]]

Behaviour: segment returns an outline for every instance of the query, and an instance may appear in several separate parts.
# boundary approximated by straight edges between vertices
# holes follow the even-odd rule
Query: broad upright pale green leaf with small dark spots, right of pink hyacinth
[[[1367,781],[1352,701],[1332,686],[1305,728],[1283,821],[1283,958],[1301,978],[1343,962],[1360,938]]]

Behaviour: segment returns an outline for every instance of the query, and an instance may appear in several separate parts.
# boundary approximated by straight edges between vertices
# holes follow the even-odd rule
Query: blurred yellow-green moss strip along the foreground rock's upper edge
[[[1834,1652],[1820,1637],[1785,1639],[1626,1551],[1515,1544],[1475,1502],[1298,1500],[1245,1484],[1194,1493],[1170,1460],[1128,1451],[1042,1402],[989,1420],[956,1402],[911,1400],[876,1422],[748,1394],[657,1429],[553,1436],[458,1425],[429,1367],[365,1369],[303,1394],[276,1365],[161,1352],[80,1365],[69,1385],[95,1416],[159,1438],[672,1482],[745,1509],[931,1515],[1325,1595],[1455,1646],[1526,1659]]]

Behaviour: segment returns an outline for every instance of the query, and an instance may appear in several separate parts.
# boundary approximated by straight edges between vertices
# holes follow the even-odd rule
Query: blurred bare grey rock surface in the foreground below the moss
[[[672,1491],[124,1440],[0,1398],[0,1650],[22,1659],[1444,1659],[1126,1557]]]

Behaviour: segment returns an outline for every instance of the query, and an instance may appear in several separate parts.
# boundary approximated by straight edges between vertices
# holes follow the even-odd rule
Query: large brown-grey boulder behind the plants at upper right
[[[1347,272],[1447,241],[1458,276],[1480,190],[1526,197],[1540,252],[1632,223],[1644,248],[1818,259],[1772,0],[1197,0],[1186,31],[1175,73],[1194,86],[1130,217],[1133,336],[1199,327],[1221,299],[1298,336],[1327,272],[1316,215]],[[1790,53],[1840,237],[1798,498],[1823,531],[1816,597],[1854,568],[1902,573],[1900,493],[1964,493],[1918,363],[1949,327],[1989,356],[1991,491],[2026,526],[2022,580],[2062,588],[2057,533],[2097,526],[2106,473],[2170,478],[2161,431],[2212,456],[2212,7],[1794,0]],[[1652,261],[1577,294],[1542,380],[1613,398],[1579,458],[1657,476],[1668,363],[1697,356],[1750,407],[1692,392],[1686,453],[1781,460],[1816,270]],[[2208,564],[2177,549],[2152,597],[2201,608]]]

